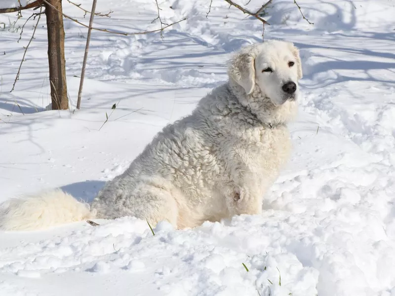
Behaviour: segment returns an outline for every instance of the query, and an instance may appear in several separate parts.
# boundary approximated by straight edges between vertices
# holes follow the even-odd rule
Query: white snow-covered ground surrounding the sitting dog
[[[89,0],[78,3],[90,10]],[[158,3],[164,22],[188,18],[163,40],[92,32],[75,113],[44,111],[44,16],[9,92],[35,21],[17,43],[30,11],[16,25],[16,14],[0,15],[0,202],[56,186],[90,200],[227,79],[234,50],[261,41],[262,24],[223,0],[208,18],[210,0]],[[273,4],[265,38],[301,49],[304,78],[292,159],[263,214],[185,230],[162,222],[155,236],[134,218],[0,232],[0,296],[395,296],[395,1],[299,0],[314,25],[293,0]],[[110,9],[96,27],[158,29],[154,0],[98,1],[97,11]],[[86,28],[65,20],[65,32],[74,106]]]

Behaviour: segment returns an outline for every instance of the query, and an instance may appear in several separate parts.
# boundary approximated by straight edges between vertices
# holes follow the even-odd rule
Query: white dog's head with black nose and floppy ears
[[[299,50],[279,40],[246,46],[231,59],[228,74],[246,95],[258,87],[263,99],[281,106],[298,98],[302,78]]]

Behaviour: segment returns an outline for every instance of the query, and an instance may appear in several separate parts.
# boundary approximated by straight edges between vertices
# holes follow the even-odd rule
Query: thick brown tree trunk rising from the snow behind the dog
[[[45,3],[48,31],[49,83],[51,86],[52,110],[67,110],[65,31],[63,28],[62,0],[47,0]],[[55,9],[55,8],[56,9]]]

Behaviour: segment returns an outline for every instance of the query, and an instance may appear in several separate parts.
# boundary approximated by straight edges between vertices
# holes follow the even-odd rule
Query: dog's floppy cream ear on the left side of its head
[[[237,52],[229,62],[229,77],[241,85],[249,95],[255,86],[255,45],[249,45]]]

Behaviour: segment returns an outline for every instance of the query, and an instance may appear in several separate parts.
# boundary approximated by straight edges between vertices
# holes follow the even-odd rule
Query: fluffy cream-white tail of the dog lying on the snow
[[[55,189],[5,201],[0,205],[0,229],[36,230],[94,216],[88,204]]]

